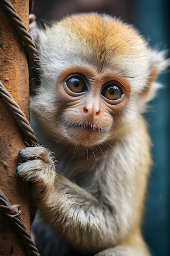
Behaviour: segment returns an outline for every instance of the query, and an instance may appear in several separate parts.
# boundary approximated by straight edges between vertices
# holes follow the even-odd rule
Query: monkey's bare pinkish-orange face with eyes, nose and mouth
[[[57,80],[56,94],[59,131],[75,144],[88,147],[115,133],[130,87],[108,70],[97,72],[88,65],[64,70]]]

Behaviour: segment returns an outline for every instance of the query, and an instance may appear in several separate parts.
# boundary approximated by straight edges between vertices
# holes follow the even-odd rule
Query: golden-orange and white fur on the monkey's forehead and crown
[[[40,33],[42,52],[64,65],[91,63],[97,70],[120,67],[126,73],[132,72],[130,76],[141,76],[142,70],[145,73],[148,68],[144,38],[132,26],[108,15],[68,16],[45,33],[45,37]]]

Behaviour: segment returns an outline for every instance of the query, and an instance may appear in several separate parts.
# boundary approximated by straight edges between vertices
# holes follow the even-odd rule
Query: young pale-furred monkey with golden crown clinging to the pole
[[[106,14],[31,26],[40,85],[30,108],[45,146],[20,150],[17,176],[77,255],[150,256],[141,232],[152,166],[144,112],[169,65],[165,51]]]

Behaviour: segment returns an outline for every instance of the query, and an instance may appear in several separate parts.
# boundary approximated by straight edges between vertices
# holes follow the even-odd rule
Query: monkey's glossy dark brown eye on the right
[[[122,91],[119,88],[118,85],[109,83],[105,86],[105,88],[102,90],[102,95],[109,99],[110,101],[116,101],[117,99],[120,99],[122,96]]]

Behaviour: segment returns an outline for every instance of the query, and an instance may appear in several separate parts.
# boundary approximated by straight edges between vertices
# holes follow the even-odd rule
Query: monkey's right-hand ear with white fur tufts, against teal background
[[[143,92],[146,102],[152,100],[157,90],[161,88],[161,84],[156,82],[156,80],[158,75],[170,65],[170,58],[167,59],[166,54],[167,51],[158,52],[156,50],[150,50],[150,78]]]

